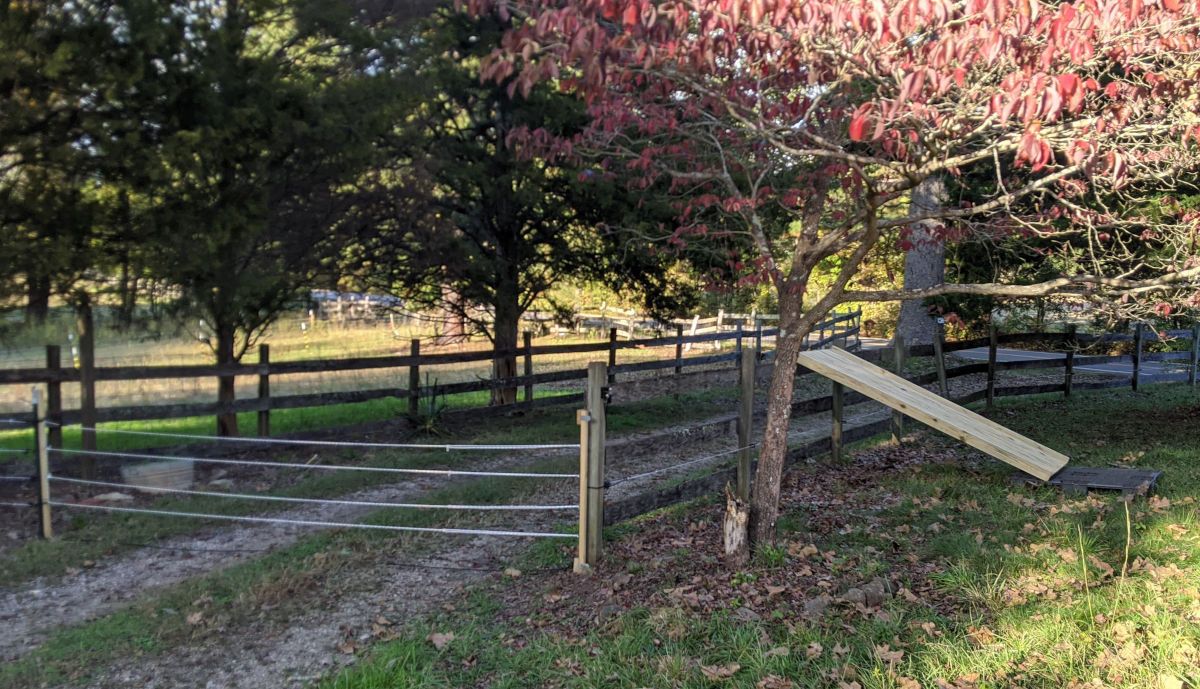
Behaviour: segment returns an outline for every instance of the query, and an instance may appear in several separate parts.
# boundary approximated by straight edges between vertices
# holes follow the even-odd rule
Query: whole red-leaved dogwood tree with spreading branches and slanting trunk
[[[1196,0],[469,0],[492,2],[524,22],[482,77],[516,74],[522,91],[560,83],[592,115],[574,139],[526,131],[512,144],[588,157],[634,186],[667,180],[679,220],[664,242],[715,242],[734,278],[778,293],[757,543],[774,539],[796,357],[836,304],[1056,292],[1194,302],[1194,222],[1164,239],[1190,251],[1118,275],[920,290],[856,278],[913,224],[940,239],[1067,233],[1103,253],[1112,218],[1081,199],[1196,169]],[[967,170],[990,173],[973,203],[902,212],[923,181]],[[811,294],[829,258],[838,275]]]

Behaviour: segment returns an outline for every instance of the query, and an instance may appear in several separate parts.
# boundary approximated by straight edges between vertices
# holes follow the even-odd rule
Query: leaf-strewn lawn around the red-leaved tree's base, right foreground
[[[781,540],[748,567],[718,558],[724,505],[666,510],[613,529],[593,577],[493,582],[324,687],[1200,684],[1200,397],[1006,400],[994,418],[1080,465],[1162,469],[1162,491],[1067,498],[932,433],[863,443],[792,473]]]

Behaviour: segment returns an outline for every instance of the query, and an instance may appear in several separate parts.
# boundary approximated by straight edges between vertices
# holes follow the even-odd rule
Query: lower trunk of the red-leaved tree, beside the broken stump
[[[758,451],[758,467],[750,493],[751,544],[761,547],[775,541],[779,520],[779,492],[787,459],[787,429],[792,420],[792,391],[796,387],[796,357],[808,329],[799,328],[803,290],[780,294],[780,331],[775,342],[775,365],[767,390],[767,421]]]

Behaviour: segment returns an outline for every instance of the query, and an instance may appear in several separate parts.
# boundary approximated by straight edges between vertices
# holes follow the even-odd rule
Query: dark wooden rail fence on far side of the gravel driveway
[[[821,323],[815,331],[822,332],[820,340],[810,343],[814,347],[823,347],[834,342],[840,342],[847,348],[853,348],[858,337],[858,319],[860,312],[852,312],[834,316]],[[98,423],[109,421],[137,421],[137,420],[164,420],[190,417],[220,415],[229,413],[257,412],[259,414],[259,435],[270,435],[270,412],[277,409],[294,409],[301,407],[324,407],[329,405],[346,405],[353,402],[366,402],[385,397],[395,397],[408,401],[408,412],[418,415],[422,399],[440,397],[461,393],[491,391],[504,389],[523,390],[522,400],[516,405],[505,407],[487,407],[490,413],[499,413],[511,409],[528,409],[553,405],[576,405],[582,400],[581,395],[558,395],[551,397],[534,399],[535,385],[547,383],[562,383],[569,381],[583,381],[587,378],[586,369],[534,372],[534,364],[538,357],[604,353],[608,363],[610,379],[623,373],[635,373],[643,371],[672,370],[676,375],[682,375],[685,369],[696,366],[712,366],[734,361],[744,342],[752,340],[756,348],[761,348],[764,338],[773,338],[778,329],[762,328],[762,323],[754,330],[748,330],[738,324],[730,330],[683,334],[677,330],[673,336],[647,337],[637,340],[620,340],[617,326],[611,326],[607,342],[584,342],[574,344],[545,344],[533,346],[532,337],[527,332],[524,344],[509,351],[479,351],[479,352],[452,352],[432,353],[420,352],[420,341],[412,342],[410,353],[396,357],[368,357],[352,359],[319,359],[301,361],[271,361],[270,347],[263,344],[259,348],[259,363],[257,364],[230,364],[230,365],[170,365],[170,366],[97,366],[95,369],[62,367],[61,357],[56,346],[47,347],[47,366],[42,369],[0,369],[0,385],[34,384],[46,385],[47,389],[47,418],[54,424],[84,424],[91,426]],[[827,335],[826,335],[827,334]],[[733,352],[725,354],[690,355],[684,352],[695,344],[713,344],[718,348],[720,343],[732,342]],[[653,361],[638,361],[630,364],[617,364],[618,352],[634,348],[674,347],[674,355],[667,359]],[[521,376],[511,378],[490,378],[480,381],[467,381],[462,383],[444,383],[433,385],[421,385],[421,372],[430,367],[449,364],[463,364],[473,361],[493,361],[499,358],[516,358],[523,365]],[[407,388],[376,388],[367,390],[352,390],[340,393],[314,393],[304,395],[272,395],[271,377],[295,373],[323,373],[334,371],[371,371],[383,369],[408,369]],[[62,408],[62,385],[80,385],[80,400],[96,400],[96,384],[110,381],[154,381],[154,379],[192,379],[192,378],[227,378],[227,377],[257,377],[258,395],[256,397],[236,400],[232,403],[221,402],[181,402],[172,405],[142,405],[122,407],[88,408],[86,405],[79,409]],[[31,413],[6,414],[6,417],[34,421]]]

